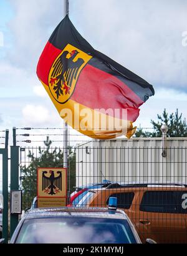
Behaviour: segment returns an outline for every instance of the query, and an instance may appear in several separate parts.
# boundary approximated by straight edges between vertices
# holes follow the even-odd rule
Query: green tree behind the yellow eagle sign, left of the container
[[[63,151],[57,147],[52,149],[52,142],[47,137],[44,141],[45,147],[39,147],[37,154],[29,150],[27,159],[29,165],[21,167],[22,190],[23,190],[23,207],[31,207],[32,200],[37,194],[37,167],[63,167]],[[69,147],[69,173],[68,173],[68,190],[72,192],[75,186],[75,149]]]

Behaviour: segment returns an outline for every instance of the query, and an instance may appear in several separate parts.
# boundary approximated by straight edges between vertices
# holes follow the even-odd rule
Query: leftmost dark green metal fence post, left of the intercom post
[[[3,210],[2,210],[2,238],[4,242],[8,242],[8,138],[9,130],[6,130],[5,147],[0,150],[2,154],[2,195],[3,195]]]

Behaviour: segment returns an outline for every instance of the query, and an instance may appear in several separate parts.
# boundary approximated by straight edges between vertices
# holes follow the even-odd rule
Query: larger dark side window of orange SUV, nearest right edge
[[[177,213],[178,205],[173,191],[146,191],[140,204],[144,212]]]

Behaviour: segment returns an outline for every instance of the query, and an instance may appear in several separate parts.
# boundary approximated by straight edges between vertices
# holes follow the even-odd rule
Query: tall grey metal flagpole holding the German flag
[[[64,17],[69,15],[69,0],[64,0]],[[68,159],[67,159],[67,147],[68,147],[68,137],[67,137],[67,123],[64,123],[64,168],[68,167]],[[67,175],[68,176],[68,175]],[[68,182],[67,182],[68,184]],[[67,198],[69,200],[69,191],[67,194]]]

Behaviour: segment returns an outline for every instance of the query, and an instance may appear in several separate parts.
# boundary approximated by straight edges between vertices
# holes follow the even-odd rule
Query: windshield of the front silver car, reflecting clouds
[[[89,217],[27,219],[16,244],[136,244],[127,220]]]

